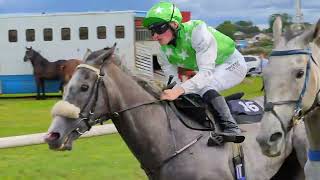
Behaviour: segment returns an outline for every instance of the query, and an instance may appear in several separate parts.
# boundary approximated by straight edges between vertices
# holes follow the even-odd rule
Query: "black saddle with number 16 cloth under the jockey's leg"
[[[241,99],[244,93],[235,93],[225,97],[232,116],[238,124],[260,122],[263,108],[252,100]],[[170,107],[179,119],[190,129],[214,131],[213,114],[198,94],[186,94],[174,100]]]

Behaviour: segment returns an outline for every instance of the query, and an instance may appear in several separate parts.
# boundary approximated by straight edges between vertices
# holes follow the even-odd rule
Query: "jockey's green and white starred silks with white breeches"
[[[184,23],[183,27],[180,27],[181,30],[188,26],[187,24]],[[216,31],[207,27],[202,21],[191,21],[187,32],[183,38],[180,40],[178,38],[176,49],[171,45],[162,46],[161,57],[158,59],[166,77],[173,75],[174,81],[178,83],[180,81],[177,67],[198,71],[193,78],[177,85],[181,86],[185,93],[202,95],[209,89],[222,91],[239,84],[244,79],[247,71],[246,63],[243,56],[234,48],[231,39],[227,37],[221,40],[226,36],[222,34],[215,36]]]

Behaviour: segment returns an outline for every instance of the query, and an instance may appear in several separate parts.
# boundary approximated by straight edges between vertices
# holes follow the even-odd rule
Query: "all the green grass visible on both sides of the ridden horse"
[[[262,95],[261,78],[245,81],[224,95],[243,91]],[[1,96],[0,96],[1,97]],[[46,132],[50,109],[58,98],[0,98],[0,137]],[[118,134],[77,140],[71,152],[50,151],[47,145],[0,149],[0,180],[140,180],[147,179]]]

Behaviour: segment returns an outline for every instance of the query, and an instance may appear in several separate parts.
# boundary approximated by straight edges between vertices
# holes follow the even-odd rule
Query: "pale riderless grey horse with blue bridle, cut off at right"
[[[273,36],[274,50],[263,71],[265,113],[257,141],[264,154],[278,156],[292,127],[304,118],[310,144],[306,178],[320,179],[320,21],[305,31],[283,34],[277,17]]]

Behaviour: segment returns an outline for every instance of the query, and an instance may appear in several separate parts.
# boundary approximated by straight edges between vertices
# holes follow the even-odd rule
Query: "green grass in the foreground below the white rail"
[[[0,150],[1,180],[146,180],[118,134],[78,140],[56,152],[33,145]]]

